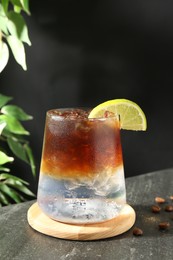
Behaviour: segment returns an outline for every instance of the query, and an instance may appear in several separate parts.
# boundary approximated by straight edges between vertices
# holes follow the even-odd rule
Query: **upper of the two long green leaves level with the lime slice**
[[[11,115],[21,121],[33,119],[31,115],[26,114],[22,108],[15,105],[4,106],[1,109],[1,112],[6,115]]]

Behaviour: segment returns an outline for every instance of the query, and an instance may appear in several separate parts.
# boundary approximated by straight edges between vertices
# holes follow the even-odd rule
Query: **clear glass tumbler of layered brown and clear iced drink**
[[[118,116],[88,119],[89,109],[46,113],[37,202],[64,223],[99,223],[126,203]]]

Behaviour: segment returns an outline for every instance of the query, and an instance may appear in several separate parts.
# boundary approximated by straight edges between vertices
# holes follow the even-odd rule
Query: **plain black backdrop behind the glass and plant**
[[[146,132],[122,130],[125,176],[173,166],[173,2],[161,0],[31,1],[26,17],[28,70],[12,55],[0,92],[34,119],[26,123],[37,166],[16,174],[37,189],[45,113],[127,98],[146,114]]]

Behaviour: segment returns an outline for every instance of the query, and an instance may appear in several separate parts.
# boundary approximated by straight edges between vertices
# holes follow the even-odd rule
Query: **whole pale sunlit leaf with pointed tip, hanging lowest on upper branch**
[[[8,44],[10,45],[16,62],[22,66],[23,70],[27,70],[25,49],[23,43],[13,35],[7,36],[6,39]]]

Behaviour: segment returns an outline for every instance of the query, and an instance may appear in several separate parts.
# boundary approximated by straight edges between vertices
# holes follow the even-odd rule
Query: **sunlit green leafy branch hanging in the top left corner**
[[[9,60],[9,48],[16,62],[27,70],[24,43],[31,46],[22,12],[30,15],[29,0],[0,0],[0,72]]]

